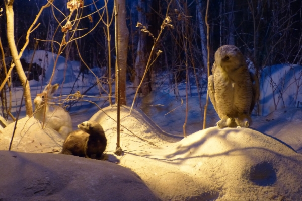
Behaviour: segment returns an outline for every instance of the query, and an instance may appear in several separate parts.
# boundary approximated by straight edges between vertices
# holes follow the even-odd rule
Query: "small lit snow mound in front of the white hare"
[[[0,150],[8,150],[12,139],[15,122],[2,130]],[[42,129],[42,124],[35,118],[24,117],[17,122],[12,143],[12,151],[46,153],[61,151],[64,139],[52,128]]]

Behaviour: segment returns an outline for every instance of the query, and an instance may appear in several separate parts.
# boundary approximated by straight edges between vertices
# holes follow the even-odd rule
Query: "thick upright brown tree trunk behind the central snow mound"
[[[126,73],[127,73],[127,51],[128,51],[128,41],[129,41],[129,30],[126,24],[126,2],[125,0],[115,0],[116,7],[118,9],[115,19],[116,30],[116,62],[119,68],[119,78],[117,78],[117,73],[115,75],[115,80],[118,82],[120,90],[120,105],[126,105]],[[119,80],[118,80],[119,79]],[[117,94],[118,89],[115,89]]]

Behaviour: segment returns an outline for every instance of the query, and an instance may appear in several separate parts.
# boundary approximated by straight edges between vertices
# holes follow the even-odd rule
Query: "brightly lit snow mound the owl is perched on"
[[[115,156],[116,109],[107,107],[91,120],[104,127],[109,160],[136,172],[162,200],[299,200],[302,196],[302,156],[281,141],[250,128],[211,127],[179,142],[167,142],[141,111],[123,107],[121,131],[124,155]],[[112,112],[112,113],[110,113]],[[143,126],[142,126],[143,125]],[[145,134],[148,133],[148,134]],[[148,138],[147,138],[148,137]],[[179,139],[179,138],[178,138]]]

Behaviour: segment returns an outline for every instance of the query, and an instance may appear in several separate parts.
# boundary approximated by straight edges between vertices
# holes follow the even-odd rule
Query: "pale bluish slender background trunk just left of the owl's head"
[[[199,25],[199,33],[201,39],[201,52],[202,52],[202,63],[206,68],[207,66],[207,49],[206,49],[206,31],[204,26],[204,17],[202,13],[202,0],[197,0],[197,17],[198,17],[198,25]]]

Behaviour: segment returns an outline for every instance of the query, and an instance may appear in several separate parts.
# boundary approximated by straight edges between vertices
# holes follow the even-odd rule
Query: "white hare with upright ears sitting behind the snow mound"
[[[58,88],[59,84],[53,86],[48,84],[41,94],[36,95],[34,100],[35,118],[43,122],[45,113],[44,126],[58,131],[63,138],[66,138],[68,133],[72,131],[71,117],[64,108],[48,102]],[[46,98],[47,104],[45,104]]]

